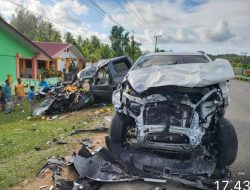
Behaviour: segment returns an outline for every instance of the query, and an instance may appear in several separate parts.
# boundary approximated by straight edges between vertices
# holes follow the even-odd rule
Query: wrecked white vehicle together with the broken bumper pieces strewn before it
[[[52,169],[60,189],[132,180],[214,189],[215,181],[230,180],[237,155],[237,135],[224,118],[233,77],[228,61],[202,53],[146,54],[113,93],[106,147],[90,151],[85,140],[67,163],[78,179],[58,176],[61,160],[54,158],[41,171]]]

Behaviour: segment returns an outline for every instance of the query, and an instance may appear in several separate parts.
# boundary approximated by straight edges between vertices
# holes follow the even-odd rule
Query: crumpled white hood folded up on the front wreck
[[[152,66],[132,70],[127,80],[138,93],[151,87],[204,87],[234,78],[231,64],[224,59],[209,63]]]

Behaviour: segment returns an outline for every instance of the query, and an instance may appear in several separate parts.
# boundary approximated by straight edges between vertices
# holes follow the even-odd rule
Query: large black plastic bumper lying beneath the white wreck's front
[[[214,171],[215,160],[173,161],[145,150],[123,149],[119,144],[113,144],[108,137],[106,145],[108,149],[103,148],[92,157],[73,157],[74,166],[81,177],[99,182],[142,179],[165,183],[171,180],[200,189],[213,186],[206,176]]]

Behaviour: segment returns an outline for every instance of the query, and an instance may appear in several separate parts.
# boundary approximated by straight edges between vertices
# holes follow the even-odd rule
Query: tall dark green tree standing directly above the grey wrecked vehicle
[[[111,41],[111,47],[115,52],[115,56],[124,55],[125,49],[129,43],[129,33],[124,33],[124,28],[121,26],[113,26],[111,29],[111,35],[109,39]]]

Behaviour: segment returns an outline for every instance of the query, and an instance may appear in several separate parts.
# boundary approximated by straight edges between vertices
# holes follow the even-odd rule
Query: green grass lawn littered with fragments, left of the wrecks
[[[89,108],[60,120],[30,121],[28,103],[25,113],[15,111],[11,114],[0,113],[0,189],[6,189],[36,172],[51,155],[65,156],[72,153],[71,147],[78,143],[69,137],[72,127],[86,121],[81,128],[90,127],[98,116],[99,108]],[[73,136],[72,136],[73,137]],[[49,144],[54,138],[70,142],[70,145]],[[39,151],[35,148],[40,148]]]

